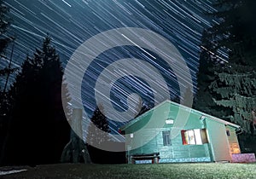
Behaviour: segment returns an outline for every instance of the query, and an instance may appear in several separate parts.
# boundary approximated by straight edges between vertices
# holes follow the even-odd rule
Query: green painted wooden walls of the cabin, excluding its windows
[[[230,160],[230,142],[237,141],[235,132],[237,125],[230,124],[226,121],[214,118],[196,110],[191,110],[187,123],[178,130],[206,128],[208,134],[207,138],[210,143],[203,145],[183,145],[180,133],[175,138],[171,139],[171,146],[164,146],[162,131],[173,130],[173,124],[166,124],[166,119],[173,119],[175,123],[177,120],[177,113],[183,113],[183,111],[188,110],[191,109],[180,106],[172,101],[165,101],[159,106],[154,107],[153,110],[149,110],[147,113],[144,113],[140,117],[131,121],[131,123],[123,126],[121,130],[124,130],[125,134],[133,135],[132,138],[130,135],[126,137],[126,155],[128,161],[130,161],[130,157],[132,155],[142,153],[160,153],[160,159],[211,158],[212,161]],[[202,116],[206,119],[202,120]],[[148,125],[149,119],[151,125],[149,127],[145,127]],[[183,118],[180,119],[182,120]],[[228,126],[232,125],[232,127],[230,127],[230,141],[228,141],[225,136],[225,124]],[[152,136],[152,134],[154,134],[154,137],[151,138],[150,141],[145,142],[148,137]],[[137,145],[141,145],[141,147],[131,150],[131,147]]]

